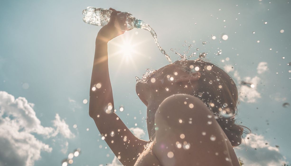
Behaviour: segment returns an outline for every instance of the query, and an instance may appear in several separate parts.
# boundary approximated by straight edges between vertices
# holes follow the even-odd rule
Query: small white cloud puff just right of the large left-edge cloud
[[[52,134],[53,136],[56,136],[58,133],[60,133],[65,138],[75,137],[75,135],[70,131],[68,124],[66,124],[64,119],[61,120],[58,114],[56,114],[56,119],[53,120],[53,124],[56,127],[55,132]]]

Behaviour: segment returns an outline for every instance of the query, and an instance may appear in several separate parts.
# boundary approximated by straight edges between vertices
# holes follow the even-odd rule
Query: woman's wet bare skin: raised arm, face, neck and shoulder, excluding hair
[[[213,116],[207,116],[212,115],[210,110],[191,95],[199,88],[199,72],[187,72],[181,65],[173,64],[161,69],[154,83],[148,80],[136,84],[136,92],[147,106],[149,142],[136,138],[113,112],[107,43],[124,32],[115,28],[118,11],[112,10],[110,22],[100,29],[96,38],[89,115],[120,162],[126,166],[239,165],[225,133]],[[93,88],[98,83],[101,87]],[[208,121],[212,124],[208,125]],[[201,134],[204,131],[206,135]],[[216,137],[214,141],[210,140],[211,135]]]

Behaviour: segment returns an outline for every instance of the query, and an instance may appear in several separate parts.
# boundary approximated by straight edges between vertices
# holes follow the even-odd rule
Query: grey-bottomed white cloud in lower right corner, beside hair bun
[[[279,149],[271,146],[263,135],[248,134],[244,138],[245,144],[235,148],[237,157],[240,157],[247,166],[280,166],[285,157]]]

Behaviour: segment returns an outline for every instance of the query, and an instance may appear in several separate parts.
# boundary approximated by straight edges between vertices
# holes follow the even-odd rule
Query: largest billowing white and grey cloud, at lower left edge
[[[57,132],[41,125],[33,106],[24,97],[0,91],[0,165],[31,166],[42,151],[52,151],[35,134],[50,138]]]

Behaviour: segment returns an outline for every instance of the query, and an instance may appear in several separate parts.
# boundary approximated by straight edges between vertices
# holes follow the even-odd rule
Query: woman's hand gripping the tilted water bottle
[[[96,42],[97,41],[109,42],[111,39],[119,35],[122,35],[124,33],[124,31],[121,31],[120,29],[115,27],[115,19],[117,17],[117,13],[121,13],[121,12],[116,11],[113,8],[109,8],[109,10],[112,10],[112,13],[110,15],[110,20],[108,24],[103,26],[98,32]]]

